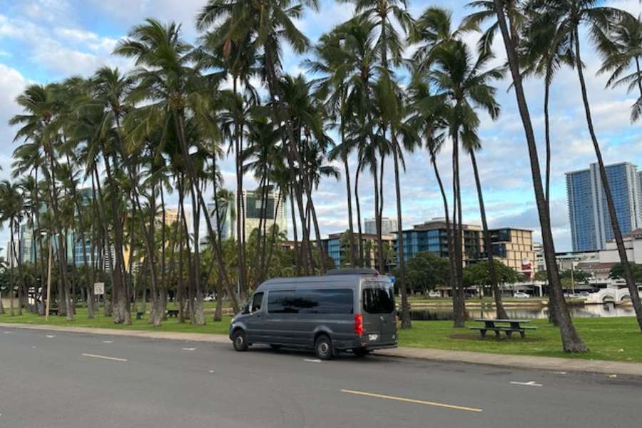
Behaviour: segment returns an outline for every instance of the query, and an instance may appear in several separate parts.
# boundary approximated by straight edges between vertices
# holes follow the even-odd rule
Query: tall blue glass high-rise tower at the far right
[[[606,177],[613,195],[616,217],[622,233],[635,230],[642,223],[642,195],[636,166],[629,162],[606,165]],[[613,239],[604,188],[597,163],[588,169],[566,173],[571,239],[574,251],[605,248]]]

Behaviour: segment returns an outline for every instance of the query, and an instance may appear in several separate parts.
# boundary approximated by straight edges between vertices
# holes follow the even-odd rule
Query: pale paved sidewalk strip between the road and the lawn
[[[61,327],[54,325],[12,323],[0,323],[0,328],[22,328],[27,330],[86,333],[91,335],[146,337],[151,339],[230,343],[230,339],[226,335],[213,335],[207,333],[116,330],[108,328]],[[530,357],[528,355],[488,354],[484,352],[435,350],[429,348],[414,347],[398,347],[393,350],[379,350],[376,352],[376,355],[384,355],[387,357],[414,358],[418,360],[452,361],[503,367],[519,367],[524,369],[554,370],[556,372],[594,372],[604,374],[628,374],[633,376],[642,376],[642,363],[637,362],[581,360],[556,357]]]

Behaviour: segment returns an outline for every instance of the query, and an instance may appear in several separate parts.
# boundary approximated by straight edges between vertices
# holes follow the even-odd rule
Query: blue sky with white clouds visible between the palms
[[[444,6],[452,9],[453,20],[457,23],[467,13],[464,7],[466,3],[457,0],[422,0],[411,1],[410,8],[417,16],[427,6]],[[642,12],[638,0],[612,0],[606,3],[634,14]],[[6,122],[19,113],[13,100],[27,84],[58,81],[73,74],[88,76],[103,64],[128,69],[131,63],[111,56],[111,51],[132,25],[147,17],[182,23],[185,39],[193,41],[197,36],[193,17],[203,4],[205,0],[0,0],[0,165],[3,168],[0,177],[9,175],[11,152],[16,146],[12,143],[14,130]],[[351,14],[352,9],[347,4],[322,0],[320,11],[307,13],[297,25],[310,39],[315,40],[332,26],[349,19]],[[466,36],[470,44],[474,44],[476,39],[475,34]],[[501,62],[501,41],[496,41],[494,48],[499,57],[497,61]],[[583,55],[593,119],[605,161],[631,161],[642,167],[642,126],[631,126],[628,121],[633,94],[628,95],[624,88],[604,89],[606,77],[596,76],[600,62],[588,43],[584,45]],[[300,66],[302,57],[286,50],[284,59],[288,72],[305,73]],[[528,153],[514,94],[507,90],[507,81],[499,82],[498,87],[501,116],[497,121],[482,116],[484,149],[478,158],[489,222],[494,227],[534,229],[536,239],[539,239]],[[544,126],[542,87],[541,81],[526,82],[526,96],[539,143],[543,139]],[[571,239],[564,172],[586,168],[595,159],[586,132],[579,84],[574,71],[560,71],[553,86],[550,109],[554,145],[552,224],[557,250],[569,250]],[[449,149],[444,149],[439,160],[446,181],[451,179],[449,153]],[[223,163],[222,168],[227,182],[233,185],[233,165]],[[352,170],[355,170],[354,165]],[[252,180],[248,180],[251,185]],[[362,182],[362,210],[365,216],[372,216],[372,186],[365,177]],[[390,174],[385,190],[385,213],[390,216],[396,212],[393,183]],[[479,223],[474,180],[465,158],[462,159],[462,186],[464,220]],[[402,195],[404,227],[443,215],[439,189],[426,153],[407,154]],[[323,181],[315,203],[323,234],[345,230],[347,208],[342,181]],[[6,235],[6,229],[0,232],[0,246],[4,247]]]

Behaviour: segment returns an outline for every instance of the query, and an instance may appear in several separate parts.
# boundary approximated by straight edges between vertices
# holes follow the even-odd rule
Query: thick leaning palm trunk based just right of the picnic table
[[[506,56],[508,57],[511,76],[513,78],[515,96],[521,121],[524,125],[524,133],[526,136],[526,143],[529,148],[529,159],[531,162],[531,175],[533,179],[533,186],[535,190],[535,200],[537,205],[537,212],[539,214],[539,223],[541,226],[542,245],[544,246],[544,260],[546,262],[546,270],[551,272],[551,284],[549,292],[556,299],[557,313],[556,319],[559,322],[559,330],[562,340],[562,345],[566,352],[586,352],[588,348],[579,337],[578,332],[575,330],[571,315],[566,302],[564,301],[563,293],[561,290],[561,283],[559,280],[559,270],[555,260],[555,245],[553,243],[553,234],[551,233],[551,221],[549,218],[549,210],[546,209],[546,199],[544,198],[544,189],[541,185],[541,173],[539,169],[539,158],[537,157],[537,146],[535,143],[535,135],[531,123],[528,104],[526,103],[526,96],[524,96],[524,87],[521,83],[521,73],[519,71],[519,58],[517,56],[514,41],[509,36],[509,30],[506,26],[506,17],[504,16],[504,9],[502,7],[502,0],[493,0],[495,5],[495,13],[499,28],[501,29],[501,36],[504,39],[504,47],[506,49]]]

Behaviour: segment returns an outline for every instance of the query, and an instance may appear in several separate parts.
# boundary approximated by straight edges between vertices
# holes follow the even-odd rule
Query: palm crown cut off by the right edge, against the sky
[[[606,81],[607,88],[628,84],[629,92],[640,92],[631,108],[631,122],[638,121],[642,116],[642,14],[637,18],[625,14],[606,36],[599,44],[603,63],[598,73],[611,74]],[[632,66],[635,66],[633,73],[622,76]]]

